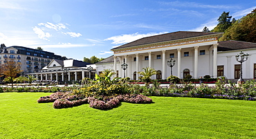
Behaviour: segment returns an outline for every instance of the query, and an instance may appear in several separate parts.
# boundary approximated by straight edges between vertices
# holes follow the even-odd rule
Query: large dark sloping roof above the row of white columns
[[[132,41],[128,44],[124,44],[122,46],[118,46],[116,48],[113,48],[111,50],[116,50],[119,48],[127,48],[131,46],[139,46],[139,45],[145,45],[145,44],[152,44],[162,41],[172,41],[175,39],[185,39],[190,37],[199,37],[203,35],[214,35],[214,34],[220,34],[220,33],[212,33],[212,32],[192,32],[192,31],[178,31],[174,33],[167,33],[163,35],[155,35],[151,37],[143,37],[142,39],[138,39],[136,41]],[[222,34],[222,33],[221,33]]]

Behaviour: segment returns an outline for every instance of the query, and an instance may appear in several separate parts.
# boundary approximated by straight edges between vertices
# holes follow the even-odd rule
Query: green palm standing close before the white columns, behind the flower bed
[[[149,83],[151,82],[152,75],[156,75],[156,70],[154,68],[146,67],[143,68],[144,71],[138,72],[140,75],[143,75],[141,80],[145,82],[146,86],[149,86]]]

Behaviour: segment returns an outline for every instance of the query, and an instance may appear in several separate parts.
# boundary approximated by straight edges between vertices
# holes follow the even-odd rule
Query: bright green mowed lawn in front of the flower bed
[[[0,93],[0,138],[256,138],[256,102],[151,97],[109,111],[53,109],[51,93]]]

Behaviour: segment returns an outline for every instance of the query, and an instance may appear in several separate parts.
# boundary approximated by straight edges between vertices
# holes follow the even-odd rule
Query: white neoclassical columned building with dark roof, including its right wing
[[[138,80],[138,72],[147,66],[154,68],[158,74],[153,79],[165,80],[171,75],[167,61],[175,59],[172,67],[173,75],[193,78],[210,75],[225,76],[229,80],[239,78],[240,63],[235,55],[242,50],[249,53],[243,63],[244,79],[256,76],[256,44],[243,41],[218,41],[223,33],[205,33],[179,31],[152,37],[145,37],[131,43],[111,49],[111,57],[96,64],[98,73],[104,69],[113,69],[118,77],[130,77]],[[122,70],[121,65],[127,64]]]

